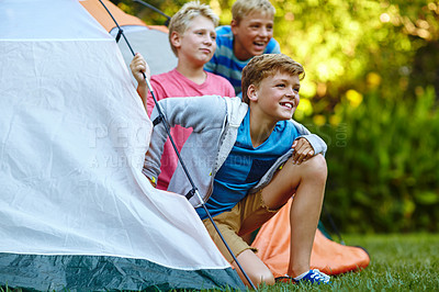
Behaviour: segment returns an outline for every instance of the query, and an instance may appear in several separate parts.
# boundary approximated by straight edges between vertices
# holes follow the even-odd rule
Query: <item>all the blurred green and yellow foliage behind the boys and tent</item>
[[[148,24],[166,19],[112,0]],[[329,144],[326,205],[344,231],[438,231],[439,1],[270,0],[306,78],[295,119]],[[148,0],[172,15],[187,0]],[[202,0],[232,19],[234,0]]]

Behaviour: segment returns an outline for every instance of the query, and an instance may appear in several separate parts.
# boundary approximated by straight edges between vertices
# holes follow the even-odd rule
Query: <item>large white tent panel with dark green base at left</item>
[[[151,122],[114,38],[77,0],[2,0],[0,27],[0,285],[244,289],[142,175]]]

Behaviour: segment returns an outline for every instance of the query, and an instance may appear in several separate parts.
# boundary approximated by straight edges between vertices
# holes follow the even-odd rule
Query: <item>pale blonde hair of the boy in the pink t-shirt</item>
[[[183,34],[188,27],[189,23],[196,16],[204,16],[213,22],[216,27],[218,25],[219,18],[213,12],[210,5],[201,4],[200,1],[191,1],[185,3],[169,22],[169,44],[171,45],[173,54],[177,56],[177,48],[172,45],[171,35],[173,32],[178,34]]]

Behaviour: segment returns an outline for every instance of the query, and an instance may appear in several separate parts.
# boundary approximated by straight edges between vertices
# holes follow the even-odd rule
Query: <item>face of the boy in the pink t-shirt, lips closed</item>
[[[199,15],[194,18],[182,35],[172,33],[171,42],[178,50],[179,59],[204,66],[216,49],[216,32],[213,22]]]

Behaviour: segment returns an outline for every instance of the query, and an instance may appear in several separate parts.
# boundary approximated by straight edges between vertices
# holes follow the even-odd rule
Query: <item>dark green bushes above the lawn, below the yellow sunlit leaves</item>
[[[337,225],[347,232],[438,231],[439,111],[432,88],[412,100],[371,93],[357,108],[346,98],[336,113],[342,122],[314,132],[328,144],[325,204]]]

